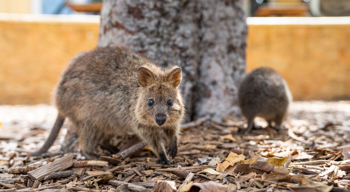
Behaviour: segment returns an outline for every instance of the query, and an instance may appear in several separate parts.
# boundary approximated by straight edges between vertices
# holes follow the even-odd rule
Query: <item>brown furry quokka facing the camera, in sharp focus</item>
[[[132,130],[151,147],[158,163],[170,164],[161,135],[168,137],[168,152],[174,158],[184,116],[180,82],[181,68],[162,70],[124,48],[84,52],[71,61],[59,80],[55,125],[33,155],[49,149],[69,118],[78,130],[79,149],[88,158],[98,156],[93,151],[98,143],[109,145],[116,133]]]

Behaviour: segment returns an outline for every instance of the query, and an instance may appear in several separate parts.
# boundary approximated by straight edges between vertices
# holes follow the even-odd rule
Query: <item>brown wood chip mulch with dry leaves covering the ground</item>
[[[241,135],[245,120],[233,116],[185,124],[171,166],[156,164],[147,147],[121,162],[100,148],[102,160],[61,154],[66,129],[49,152],[28,156],[55,116],[47,105],[0,106],[0,192],[350,191],[350,101],[294,102],[279,133],[256,119],[262,128]],[[131,137],[112,144],[120,149]]]

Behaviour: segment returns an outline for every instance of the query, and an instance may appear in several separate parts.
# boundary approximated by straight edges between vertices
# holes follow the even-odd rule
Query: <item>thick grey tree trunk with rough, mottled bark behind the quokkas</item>
[[[104,0],[99,46],[124,46],[183,71],[187,121],[238,114],[245,73],[243,0]]]

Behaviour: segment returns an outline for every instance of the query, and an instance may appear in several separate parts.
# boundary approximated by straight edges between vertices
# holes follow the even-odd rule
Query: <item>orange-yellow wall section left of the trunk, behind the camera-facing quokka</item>
[[[0,20],[0,104],[49,103],[66,64],[95,47],[99,23],[22,19]]]

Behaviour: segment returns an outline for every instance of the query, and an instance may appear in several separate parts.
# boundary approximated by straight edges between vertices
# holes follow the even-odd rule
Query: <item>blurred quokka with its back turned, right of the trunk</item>
[[[292,100],[286,81],[271,68],[260,67],[243,79],[238,91],[239,106],[248,121],[245,133],[254,126],[254,118],[264,118],[271,127],[280,130]]]

